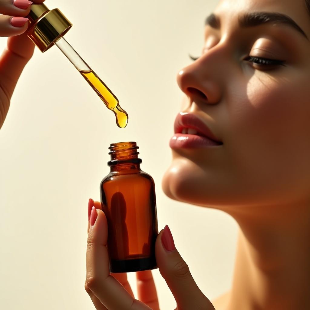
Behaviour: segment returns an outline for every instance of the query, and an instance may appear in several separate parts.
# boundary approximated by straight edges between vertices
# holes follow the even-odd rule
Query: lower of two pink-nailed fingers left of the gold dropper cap
[[[28,18],[0,15],[0,37],[13,37],[24,33],[28,28]]]

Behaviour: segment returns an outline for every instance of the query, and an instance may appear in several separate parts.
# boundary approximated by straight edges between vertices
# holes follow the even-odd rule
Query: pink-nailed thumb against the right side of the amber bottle
[[[187,263],[175,249],[168,225],[158,234],[155,255],[159,272],[173,294],[178,310],[215,310],[194,281]]]

